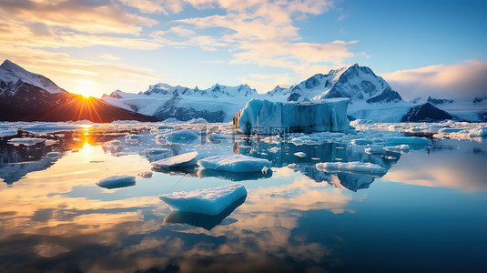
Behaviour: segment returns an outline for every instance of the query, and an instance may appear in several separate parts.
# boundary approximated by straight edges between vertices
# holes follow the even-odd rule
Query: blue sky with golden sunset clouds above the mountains
[[[487,96],[487,1],[0,0],[0,58],[69,92],[259,93],[358,63],[406,99]]]

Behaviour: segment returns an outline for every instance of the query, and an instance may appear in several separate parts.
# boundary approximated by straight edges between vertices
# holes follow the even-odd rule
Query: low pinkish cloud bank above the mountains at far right
[[[456,98],[487,96],[487,62],[465,60],[462,64],[424,66],[399,70],[381,76],[401,96],[412,99],[418,96]]]

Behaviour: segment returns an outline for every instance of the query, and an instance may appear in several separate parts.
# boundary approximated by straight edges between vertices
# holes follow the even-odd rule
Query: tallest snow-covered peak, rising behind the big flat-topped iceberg
[[[354,64],[327,75],[317,74],[289,88],[288,101],[320,100],[332,97],[349,97],[351,103],[390,103],[402,100],[398,92],[367,66]]]

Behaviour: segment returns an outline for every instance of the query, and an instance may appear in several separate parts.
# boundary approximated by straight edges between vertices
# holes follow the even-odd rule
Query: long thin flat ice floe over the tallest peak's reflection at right
[[[346,172],[350,174],[370,175],[382,177],[387,173],[384,167],[377,164],[365,163],[360,161],[354,162],[325,162],[318,163],[316,168],[324,172]]]

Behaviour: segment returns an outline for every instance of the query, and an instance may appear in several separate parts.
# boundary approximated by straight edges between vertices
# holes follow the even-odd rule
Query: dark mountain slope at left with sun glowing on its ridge
[[[31,73],[5,60],[0,66],[0,120],[68,121],[88,119],[111,122],[120,119],[154,121],[104,100],[67,92],[46,76]]]

